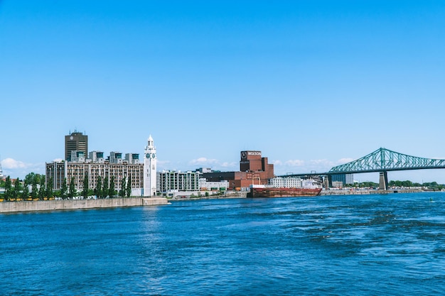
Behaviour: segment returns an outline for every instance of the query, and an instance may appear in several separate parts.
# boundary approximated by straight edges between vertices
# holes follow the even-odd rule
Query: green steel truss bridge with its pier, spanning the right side
[[[311,172],[306,174],[291,174],[290,176],[327,176],[331,181],[332,175],[356,174],[362,172],[380,172],[380,189],[387,190],[387,172],[395,170],[428,170],[434,168],[445,168],[445,159],[419,158],[412,155],[398,153],[385,148],[379,148],[374,152],[353,160],[350,163],[337,165],[328,172]],[[331,182],[330,182],[331,183]]]

